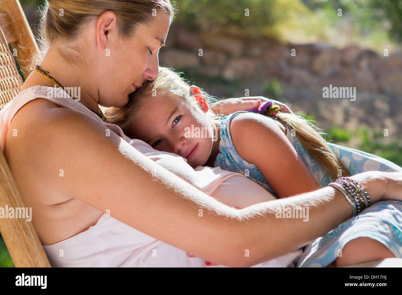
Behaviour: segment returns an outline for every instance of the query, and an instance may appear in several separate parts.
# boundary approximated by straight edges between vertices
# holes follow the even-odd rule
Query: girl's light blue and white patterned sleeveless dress
[[[275,191],[267,183],[258,168],[254,164],[242,159],[234,148],[229,129],[230,122],[242,113],[245,112],[235,112],[229,116],[225,116],[219,122],[221,130],[221,140],[219,142],[220,153],[216,157],[214,166],[241,173],[277,197]],[[276,120],[273,117],[270,118]],[[324,171],[316,160],[304,149],[291,129],[288,126],[285,127],[287,129],[287,139],[291,142],[295,151],[299,154],[320,187],[324,187],[332,182],[329,173]],[[402,172],[401,167],[381,157],[338,144],[328,143],[328,146],[338,156],[343,165],[348,167],[351,175],[365,171]],[[343,249],[345,244],[359,237],[368,237],[377,240],[387,246],[396,257],[402,258],[402,202],[380,201],[374,203],[355,218],[340,224],[326,236],[312,241],[306,247],[297,266],[325,267],[340,255],[340,250]]]

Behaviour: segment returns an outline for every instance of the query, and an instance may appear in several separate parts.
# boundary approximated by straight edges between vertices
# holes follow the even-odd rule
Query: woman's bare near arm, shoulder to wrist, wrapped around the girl
[[[32,181],[47,181],[55,192],[102,212],[109,209],[117,220],[205,260],[251,266],[298,249],[352,216],[348,201],[332,187],[236,210],[147,159],[114,132],[107,136],[106,127],[90,118],[64,108],[32,116],[14,138],[23,138],[19,148],[29,151],[21,157]],[[373,194],[379,177],[354,177],[373,202],[386,191],[379,185]],[[309,222],[277,219],[275,208],[282,206],[309,207]]]

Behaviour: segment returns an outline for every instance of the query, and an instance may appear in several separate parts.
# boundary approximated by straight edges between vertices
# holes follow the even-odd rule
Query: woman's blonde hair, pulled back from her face
[[[65,46],[62,56],[68,61],[77,62],[82,56],[82,45],[74,41],[90,20],[106,11],[113,11],[117,16],[120,35],[130,38],[138,24],[152,21],[154,9],[174,16],[170,0],[47,0],[39,25],[41,54],[52,43],[61,40]],[[40,63],[41,59],[41,56],[34,57],[29,69],[33,70],[35,63]]]

